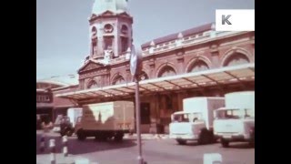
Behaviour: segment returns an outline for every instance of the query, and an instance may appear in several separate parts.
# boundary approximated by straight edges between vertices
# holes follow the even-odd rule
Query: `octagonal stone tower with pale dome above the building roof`
[[[127,0],[95,0],[89,18],[89,58],[110,63],[112,58],[125,56],[133,42],[132,24]]]

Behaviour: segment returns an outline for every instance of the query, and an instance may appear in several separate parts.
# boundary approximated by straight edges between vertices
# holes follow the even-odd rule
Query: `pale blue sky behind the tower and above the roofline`
[[[76,74],[89,53],[94,0],[36,0],[36,79]],[[143,44],[215,21],[216,9],[254,9],[255,0],[129,0],[134,40]]]

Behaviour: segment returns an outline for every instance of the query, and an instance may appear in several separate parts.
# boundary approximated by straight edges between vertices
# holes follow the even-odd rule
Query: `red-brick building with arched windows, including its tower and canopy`
[[[72,99],[79,106],[113,100],[135,101],[135,87],[129,70],[130,49],[122,47],[132,44],[133,18],[125,8],[117,10],[120,6],[113,6],[115,9],[93,11],[89,20],[93,50],[78,71],[79,91],[58,97]],[[108,36],[111,37],[110,46],[106,46]],[[141,48],[143,132],[149,132],[153,124],[166,130],[170,115],[183,109],[183,98],[223,97],[229,92],[255,89],[255,32],[216,32],[214,24],[209,23],[156,38]],[[244,76],[242,71],[236,71],[236,75],[230,73],[231,68],[236,67],[244,68]],[[229,68],[229,71],[222,68]],[[212,70],[220,71],[221,75],[216,72],[217,75],[210,74],[213,78],[207,77]],[[222,74],[228,81],[219,79],[223,78],[219,77]],[[188,75],[193,75],[196,80],[183,77]],[[199,82],[202,77],[208,81]],[[182,80],[180,84],[175,82],[178,80]],[[191,84],[182,85],[187,81]],[[163,86],[167,84],[172,87]]]

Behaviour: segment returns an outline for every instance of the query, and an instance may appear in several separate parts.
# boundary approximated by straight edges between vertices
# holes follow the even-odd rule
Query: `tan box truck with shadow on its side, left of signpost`
[[[124,133],[135,128],[135,107],[131,101],[114,101],[83,106],[83,116],[75,133],[79,140],[86,137],[122,140]]]

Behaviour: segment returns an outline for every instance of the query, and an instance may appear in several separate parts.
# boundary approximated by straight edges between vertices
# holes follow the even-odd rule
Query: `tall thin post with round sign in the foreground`
[[[135,77],[135,118],[136,118],[136,134],[137,134],[137,147],[138,147],[138,164],[144,164],[144,159],[142,155],[142,144],[141,144],[141,132],[140,132],[140,101],[139,101],[139,75],[141,72],[141,52],[135,52],[135,46],[131,47],[130,54],[130,72],[133,77]]]

